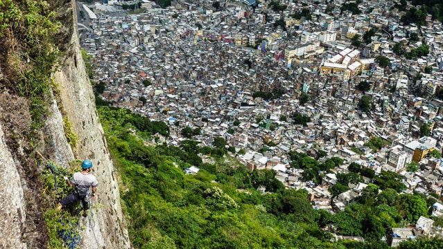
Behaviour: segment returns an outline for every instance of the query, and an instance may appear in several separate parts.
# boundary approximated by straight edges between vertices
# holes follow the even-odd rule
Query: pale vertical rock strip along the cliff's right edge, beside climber
[[[68,1],[61,3],[64,8],[69,8]],[[62,52],[66,57],[62,60],[60,71],[55,73],[61,98],[59,104],[62,104],[62,109],[73,125],[73,131],[78,135],[76,158],[92,160],[93,174],[99,183],[95,201],[99,208],[98,212],[94,211],[93,216],[95,224],[87,225],[80,248],[130,248],[128,231],[121,212],[116,172],[107,151],[103,128],[98,123],[92,85],[80,52],[75,2],[70,1],[69,11],[63,9],[61,12],[66,16],[62,21],[64,28],[67,31],[73,30],[73,33],[64,34],[66,37],[62,40],[66,50]]]

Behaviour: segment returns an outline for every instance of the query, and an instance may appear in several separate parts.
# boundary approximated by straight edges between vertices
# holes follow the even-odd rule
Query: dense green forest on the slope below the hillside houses
[[[306,190],[286,189],[275,172],[251,172],[226,151],[213,154],[224,147],[223,138],[213,148],[192,140],[175,147],[159,142],[159,133],[168,136],[162,122],[100,103],[98,113],[121,174],[134,248],[388,248],[380,239],[389,228],[413,225],[419,216],[428,216],[436,201],[418,193],[399,194],[404,185],[397,174],[375,176],[354,163],[349,174],[338,174],[331,192],[340,194],[349,183],[372,177],[358,201],[337,214],[314,210]],[[319,163],[327,156],[320,149],[316,158],[295,151],[289,156],[291,167],[305,169],[313,181],[343,163],[341,158]],[[184,174],[192,165],[200,171]],[[364,237],[365,242],[337,240],[333,232]],[[440,239],[410,241],[399,248],[423,243],[443,248]]]

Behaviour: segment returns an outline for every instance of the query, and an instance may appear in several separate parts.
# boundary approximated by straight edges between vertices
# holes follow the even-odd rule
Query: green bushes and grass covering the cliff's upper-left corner
[[[31,100],[34,127],[42,126],[47,96],[54,85],[51,73],[59,53],[53,37],[59,28],[46,1],[0,1],[0,84]]]

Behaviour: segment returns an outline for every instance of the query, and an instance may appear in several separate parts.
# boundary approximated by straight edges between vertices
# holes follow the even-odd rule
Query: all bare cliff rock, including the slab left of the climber
[[[92,174],[99,185],[93,222],[85,224],[78,248],[130,248],[121,212],[118,178],[110,160],[103,128],[98,122],[92,85],[80,52],[75,1],[48,2],[57,10],[63,25],[62,35],[55,40],[64,57],[60,70],[54,74],[58,84],[54,91],[57,91],[58,100],[54,98],[49,107],[46,127],[42,131],[45,138],[40,143],[36,142],[35,146],[59,165],[67,165],[75,159],[89,159],[94,164]],[[41,210],[38,196],[42,185],[38,170],[33,168],[35,160],[31,158],[35,153],[19,139],[26,137],[23,134],[31,128],[18,120],[23,115],[6,115],[10,113],[9,105],[2,100],[7,98],[10,98],[7,93],[0,93],[0,248],[46,248],[48,237],[42,218],[44,210]],[[20,104],[16,96],[10,100],[9,104]],[[18,109],[24,113],[28,111],[25,105]],[[63,117],[71,122],[73,132],[78,136],[74,150],[65,137]]]

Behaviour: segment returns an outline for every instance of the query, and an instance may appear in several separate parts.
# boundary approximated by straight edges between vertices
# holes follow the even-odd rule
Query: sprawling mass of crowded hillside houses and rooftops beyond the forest
[[[331,214],[374,185],[379,192],[434,196],[426,215],[383,239],[398,246],[443,238],[435,223],[443,215],[438,1],[77,6],[80,46],[98,98],[168,124],[170,134],[152,142],[179,146],[192,138],[210,146],[221,137],[247,169],[272,169],[286,188],[306,190],[315,210]],[[320,165],[293,167],[299,157]],[[198,171],[193,166],[186,174]],[[383,177],[399,185],[383,185]]]

